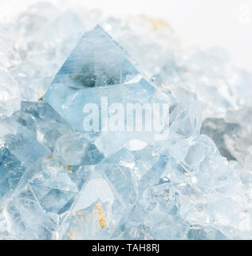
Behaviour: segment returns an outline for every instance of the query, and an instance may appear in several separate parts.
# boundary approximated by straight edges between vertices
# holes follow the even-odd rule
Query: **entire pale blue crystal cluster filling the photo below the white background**
[[[162,20],[97,15],[0,24],[0,239],[250,239],[252,75]],[[167,103],[168,136],[84,132],[104,96]]]

